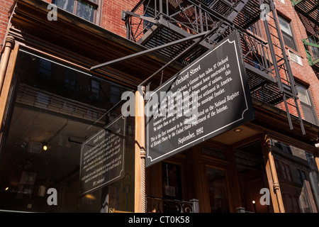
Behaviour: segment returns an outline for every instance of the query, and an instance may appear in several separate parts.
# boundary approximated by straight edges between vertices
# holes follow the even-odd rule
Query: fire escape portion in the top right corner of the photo
[[[319,1],[291,0],[291,4],[304,23],[308,38],[303,39],[309,65],[315,70],[319,79]]]

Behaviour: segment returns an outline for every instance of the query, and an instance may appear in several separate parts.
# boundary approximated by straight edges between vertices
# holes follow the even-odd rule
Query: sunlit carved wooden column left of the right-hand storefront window
[[[269,191],[272,196],[274,212],[285,213],[284,204],[281,198],[279,180],[276,173],[276,166],[274,164],[274,157],[272,156],[272,150],[270,149],[269,138],[267,135],[264,135],[264,138],[262,138],[262,153],[264,156],[264,164],[267,172],[269,187],[271,187]]]

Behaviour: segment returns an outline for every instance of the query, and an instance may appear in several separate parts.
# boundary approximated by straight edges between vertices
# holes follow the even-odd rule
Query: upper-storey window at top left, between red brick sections
[[[74,13],[86,21],[97,23],[97,10],[99,9],[99,0],[52,0],[52,4]]]

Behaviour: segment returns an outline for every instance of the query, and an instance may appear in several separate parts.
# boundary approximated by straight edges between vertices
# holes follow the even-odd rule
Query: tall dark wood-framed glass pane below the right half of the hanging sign
[[[209,200],[212,213],[228,213],[228,192],[225,171],[206,167]]]

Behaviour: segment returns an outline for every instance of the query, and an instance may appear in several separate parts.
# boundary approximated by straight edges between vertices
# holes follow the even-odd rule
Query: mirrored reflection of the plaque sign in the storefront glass
[[[125,118],[116,118],[82,144],[80,192],[103,187],[124,176]]]

